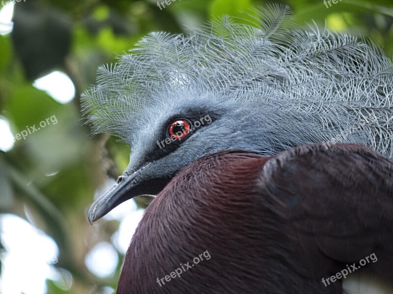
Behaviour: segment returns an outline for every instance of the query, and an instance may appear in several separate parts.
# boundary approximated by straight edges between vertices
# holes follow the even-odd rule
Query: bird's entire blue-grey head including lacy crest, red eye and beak
[[[82,97],[87,123],[131,154],[90,221],[160,192],[176,172],[223,149],[271,155],[351,142],[393,156],[392,60],[345,34],[294,28],[286,6],[253,13],[250,25],[223,18],[190,36],[151,33],[99,69]]]

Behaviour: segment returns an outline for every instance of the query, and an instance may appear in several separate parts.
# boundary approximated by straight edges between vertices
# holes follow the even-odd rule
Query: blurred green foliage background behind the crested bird
[[[53,115],[58,123],[0,152],[0,213],[26,219],[27,205],[35,225],[56,240],[56,266],[69,270],[74,284],[66,292],[48,281],[49,293],[97,293],[100,287],[117,285],[120,265],[107,279],[95,277],[84,265],[86,253],[99,242],[110,242],[118,227],[117,221],[100,221],[93,228],[88,224],[95,189],[108,175],[120,174],[129,158],[129,147],[105,135],[89,138],[81,121],[79,97],[95,83],[98,66],[115,62],[117,54],[150,31],[188,33],[224,14],[244,17],[239,11],[267,2],[289,4],[300,25],[314,20],[321,27],[366,36],[393,55],[392,0],[339,0],[328,8],[323,0],[179,0],[162,10],[156,0],[16,3],[14,29],[0,35],[0,115],[14,134]],[[73,101],[59,104],[32,86],[54,70],[73,80]]]

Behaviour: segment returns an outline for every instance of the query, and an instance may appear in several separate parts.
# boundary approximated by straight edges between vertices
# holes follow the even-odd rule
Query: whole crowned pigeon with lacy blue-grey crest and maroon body
[[[320,281],[315,285],[306,285],[305,280],[296,279],[295,276],[290,278],[291,274],[296,275],[296,271],[289,271],[289,268],[291,265],[292,268],[299,266],[299,274],[314,274],[320,278],[321,274],[338,270],[342,266],[340,262],[353,264],[360,255],[364,254],[365,257],[367,252],[353,248],[360,245],[370,250],[379,248],[378,254],[386,257],[385,262],[392,265],[390,245],[381,245],[383,241],[389,243],[392,240],[389,239],[392,235],[389,235],[392,233],[392,60],[368,40],[333,33],[316,25],[310,25],[307,29],[298,28],[294,25],[290,8],[285,5],[258,7],[249,16],[248,22],[241,24],[230,17],[223,17],[196,29],[189,36],[150,33],[129,53],[119,57],[116,64],[100,67],[97,85],[87,90],[81,98],[84,117],[86,123],[91,125],[92,133],[116,136],[131,148],[126,170],[112,188],[90,207],[90,223],[130,198],[157,195],[146,209],[126,254],[119,294],[258,293],[252,292],[250,287],[253,286],[261,291],[263,289],[260,293],[338,293],[340,282],[332,283],[329,287]],[[370,150],[362,149],[361,145]],[[299,162],[290,160],[296,152],[301,154],[304,150],[309,150],[309,157],[295,156]],[[220,158],[223,159],[220,161]],[[260,174],[273,165],[271,162],[278,166],[287,163],[284,159],[291,162],[288,163],[288,170],[281,166],[276,170],[277,174],[270,177]],[[206,160],[222,162],[225,176],[217,177],[223,172],[221,167]],[[229,170],[225,169],[226,164],[231,167]],[[206,173],[191,182],[191,167],[204,168]],[[296,167],[298,174],[303,176],[296,175]],[[209,173],[210,168],[212,172]],[[267,170],[275,171],[273,168]],[[253,177],[250,172],[255,173]],[[244,177],[243,173],[250,178]],[[260,182],[251,184],[250,181],[258,175],[265,181],[281,177],[285,184],[273,181],[269,186],[271,190],[255,191],[256,185],[261,188]],[[176,184],[178,176],[185,177],[188,186]],[[294,177],[298,182],[294,183],[286,177]],[[197,185],[198,181],[201,186]],[[246,187],[247,183],[251,186]],[[232,204],[243,209],[237,211],[232,207],[226,211],[217,203],[219,200],[229,201],[223,198],[226,195],[224,192],[228,192],[224,184],[239,188],[245,200],[251,201],[248,198],[251,196],[247,195],[259,196],[261,203],[256,207],[270,209],[278,215],[270,215],[270,221],[268,218],[255,220],[255,215],[250,215],[250,208],[247,207],[247,203],[250,205],[251,202],[243,203],[239,199],[232,199]],[[196,190],[198,193],[187,187],[199,188]],[[290,190],[292,188],[297,190]],[[220,191],[223,193],[221,196]],[[179,197],[164,201],[173,197],[171,193]],[[285,193],[288,193],[286,198],[282,196]],[[236,195],[229,193],[229,196]],[[176,218],[176,213],[181,211],[196,216],[196,206],[190,204],[193,196],[200,197],[192,202],[195,205],[203,204],[199,202],[209,196],[210,205],[218,210],[208,211],[216,214],[216,218],[202,219],[199,215],[190,220],[186,218],[187,214],[183,220]],[[284,197],[282,201],[286,201],[286,205],[300,208],[293,210],[294,214],[299,215],[292,216],[299,219],[288,217],[294,235],[285,231],[285,228],[288,229],[285,227],[288,211],[273,207],[281,203],[278,199],[280,196]],[[312,214],[313,209],[316,209],[315,215]],[[347,216],[342,215],[343,209]],[[222,215],[229,212],[232,217]],[[154,220],[149,219],[149,215],[154,215]],[[225,222],[219,218],[221,215]],[[278,220],[279,216],[282,219]],[[247,217],[248,221],[244,220]],[[262,211],[257,217],[262,218]],[[348,226],[334,222],[335,218],[349,221]],[[225,226],[236,224],[238,219],[239,223],[244,221],[243,228],[238,226],[235,231],[225,231]],[[264,221],[263,225],[257,221]],[[175,222],[189,225],[187,231],[180,231]],[[171,226],[166,227],[164,223]],[[352,224],[358,225],[354,235],[348,233]],[[317,225],[322,226],[321,231],[318,231]],[[255,235],[255,226],[261,235]],[[332,232],[333,229],[337,230],[337,235],[335,231]],[[207,232],[198,238],[200,230]],[[242,231],[251,234],[247,240],[242,236]],[[223,232],[232,235],[223,236]],[[180,236],[180,233],[184,233],[187,240],[194,236],[196,243],[184,245],[184,240],[173,237]],[[324,238],[321,237],[322,241],[318,241],[323,242],[318,246],[324,248],[324,256],[315,252],[317,248],[313,242],[318,240],[318,233],[326,234]],[[225,244],[220,243],[217,236],[232,242],[230,253],[234,255],[223,257],[223,253],[218,253],[217,246],[224,250]],[[335,236],[337,239],[333,238]],[[340,236],[345,238],[339,240]],[[263,237],[266,237],[266,246],[270,247],[261,247],[260,250],[266,250],[265,255],[256,256],[254,254],[261,251],[251,250],[256,246],[253,242],[262,242],[260,238]],[[374,237],[377,240],[368,244]],[[293,248],[303,250],[303,253],[310,250],[309,260],[302,252],[295,254],[280,250],[280,244],[273,242],[272,238],[278,238],[274,239],[276,241],[285,239],[289,243],[283,245],[292,244]],[[145,284],[150,285],[153,273],[158,274],[149,267],[151,263],[156,268],[170,270],[169,264],[177,266],[176,262],[187,261],[191,257],[190,252],[204,257],[203,254],[210,251],[197,244],[211,240],[217,241],[214,246],[209,243],[216,248],[211,249],[211,259],[190,270],[190,273],[195,273],[194,288],[190,284],[192,289],[185,290],[182,283],[186,283],[187,279],[183,279],[183,276],[170,282],[165,278],[161,280],[162,276],[154,276],[160,283],[167,281],[168,285],[160,286],[154,282],[155,288],[143,288],[148,287]],[[259,242],[258,245],[262,245]],[[180,251],[176,251],[180,245],[190,251],[180,256]],[[243,247],[250,250],[242,252]],[[196,248],[203,251],[196,252]],[[233,248],[238,248],[240,252],[235,254]],[[159,254],[164,251],[164,255]],[[286,259],[285,254],[289,253],[294,259]],[[368,257],[371,253],[374,252],[367,253]],[[269,257],[268,254],[275,259],[264,259]],[[267,263],[266,267],[257,268],[259,274],[263,273],[263,285],[254,279],[253,263],[246,263],[251,258]],[[379,267],[381,271],[385,262],[380,260],[370,267]],[[223,262],[232,271],[222,269],[221,273],[219,270],[213,274],[212,270],[217,269],[218,262]],[[326,270],[319,267],[326,267]],[[307,272],[300,272],[302,269]],[[231,279],[228,273],[235,270],[236,274]],[[161,274],[168,276],[168,272]],[[282,281],[281,276],[290,282]],[[245,286],[243,292],[235,292],[247,281],[250,285]],[[226,286],[224,282],[227,282]],[[179,285],[177,289],[183,292],[169,291],[170,287],[175,287],[169,286],[170,283]],[[279,287],[279,284],[282,285]],[[209,292],[206,287],[215,290]],[[274,292],[276,289],[282,292]],[[297,289],[297,292],[289,292],[288,289]]]

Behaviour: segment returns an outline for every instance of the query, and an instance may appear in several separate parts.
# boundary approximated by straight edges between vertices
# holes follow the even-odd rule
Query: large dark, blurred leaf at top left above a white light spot
[[[63,67],[72,41],[71,28],[66,14],[43,3],[15,5],[11,37],[28,79]]]

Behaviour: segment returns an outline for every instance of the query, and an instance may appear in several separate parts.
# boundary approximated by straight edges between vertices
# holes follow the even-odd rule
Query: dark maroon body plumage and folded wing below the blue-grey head
[[[211,256],[161,279],[202,252]],[[342,293],[321,279],[375,253],[393,278],[393,163],[366,147],[205,156],[152,201],[118,294]]]

